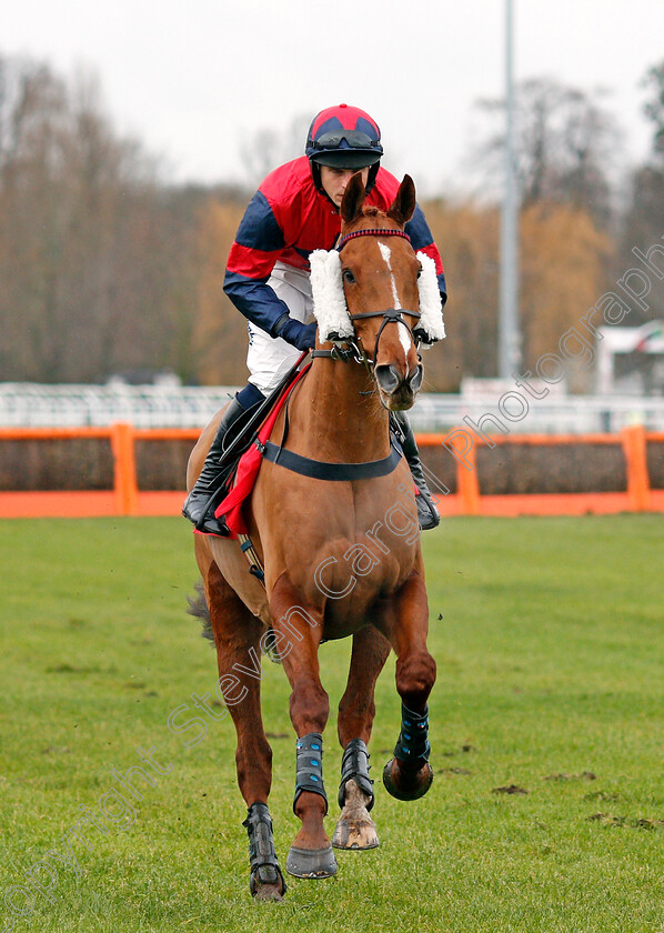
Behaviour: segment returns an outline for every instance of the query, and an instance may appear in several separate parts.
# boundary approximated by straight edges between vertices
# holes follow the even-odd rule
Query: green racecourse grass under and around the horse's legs
[[[371,748],[381,847],[340,853],[333,880],[291,880],[279,905],[249,896],[229,720],[191,749],[193,730],[168,728],[215,675],[185,614],[187,523],[0,523],[0,931],[3,893],[30,870],[46,883],[33,866],[64,853],[79,805],[99,814],[120,786],[110,769],[139,764],[138,746],[172,771],[137,782],[133,825],[112,810],[108,835],[88,826],[90,849],[69,836],[81,873],[51,857],[52,903],[10,892],[31,910],[17,931],[662,931],[662,540],[654,515],[457,519],[425,534],[433,787],[406,804],[380,782],[399,731],[389,663]],[[333,709],[349,648],[321,649]],[[283,864],[298,827],[289,691],[269,662],[263,685]],[[333,716],[326,749],[331,833]],[[512,784],[527,794],[495,792]]]

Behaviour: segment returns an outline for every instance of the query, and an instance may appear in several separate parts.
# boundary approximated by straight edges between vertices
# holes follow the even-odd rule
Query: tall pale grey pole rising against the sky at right
[[[501,214],[499,375],[510,379],[520,363],[519,205],[514,146],[514,16],[505,0],[505,190]]]

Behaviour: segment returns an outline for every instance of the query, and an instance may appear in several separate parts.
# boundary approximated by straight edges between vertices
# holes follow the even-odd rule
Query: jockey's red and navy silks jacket
[[[394,201],[399,181],[380,168],[365,203],[386,211]],[[313,250],[334,248],[341,218],[332,202],[316,191],[309,159],[302,156],[271,172],[247,208],[235,234],[223,289],[253,324],[274,337],[276,322],[289,309],[266,284],[279,260],[309,270]],[[405,225],[415,252],[435,261],[439,288],[446,298],[445,275],[429,224],[420,207]]]

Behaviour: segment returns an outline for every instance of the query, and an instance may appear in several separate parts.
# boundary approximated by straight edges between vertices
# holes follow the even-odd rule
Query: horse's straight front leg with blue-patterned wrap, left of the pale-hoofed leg
[[[323,825],[328,813],[323,731],[330,713],[318,658],[323,620],[320,611],[302,605],[285,574],[274,584],[270,610],[283,669],[291,684],[290,714],[298,736],[293,812],[302,821],[302,827],[289,851],[286,871],[296,877],[330,877],[336,872],[336,860]]]

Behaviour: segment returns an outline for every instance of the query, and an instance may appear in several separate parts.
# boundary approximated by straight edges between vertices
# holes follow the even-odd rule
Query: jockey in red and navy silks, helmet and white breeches
[[[249,383],[224,411],[201,475],[182,513],[199,531],[227,535],[210,505],[225,479],[219,466],[229,428],[260,404],[294,365],[302,351],[315,345],[309,254],[334,248],[341,230],[339,209],[351,177],[358,171],[366,188],[366,204],[386,211],[399,182],[380,165],[381,132],[363,110],[345,103],[322,110],[313,120],[305,156],[271,172],[247,208],[227,267],[224,291],[248,319]],[[439,251],[420,207],[405,230],[413,249],[436,264],[443,303],[445,278]],[[422,529],[435,528],[440,515],[431,499],[413,430],[405,412],[395,412],[402,447],[420,491],[415,496]],[[393,417],[393,415],[391,415]]]

